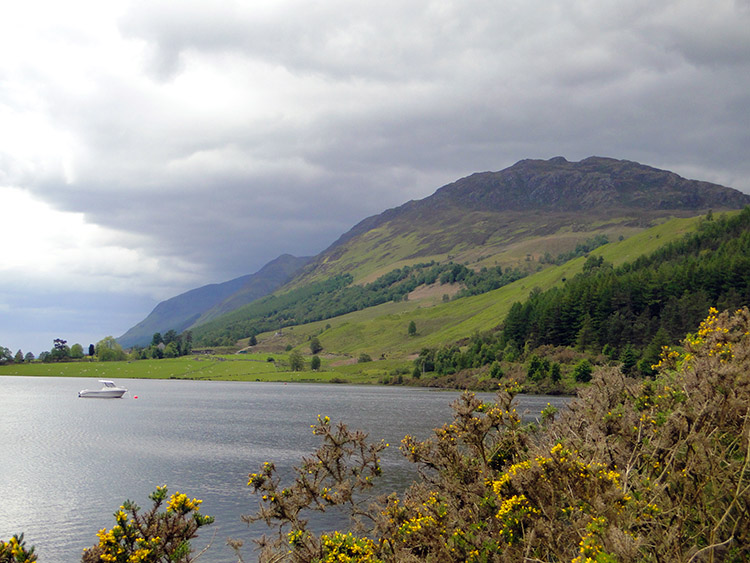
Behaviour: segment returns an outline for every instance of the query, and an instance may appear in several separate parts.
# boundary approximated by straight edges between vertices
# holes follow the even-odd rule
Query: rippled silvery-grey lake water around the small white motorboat
[[[247,475],[264,461],[289,475],[318,444],[310,430],[318,414],[390,442],[382,487],[402,490],[414,473],[398,452],[401,438],[427,437],[450,419],[458,396],[348,385],[118,383],[130,390],[123,399],[79,399],[78,391],[97,388],[96,381],[0,377],[0,538],[23,532],[41,563],[80,560],[97,530],[114,525],[124,500],[147,508],[148,494],[163,484],[203,499],[201,512],[216,517],[193,542],[211,543],[201,561],[235,561],[229,537],[245,541],[252,561],[251,539],[265,528],[248,529],[240,520],[257,508]],[[563,401],[523,397],[520,410],[538,415],[548,402]]]

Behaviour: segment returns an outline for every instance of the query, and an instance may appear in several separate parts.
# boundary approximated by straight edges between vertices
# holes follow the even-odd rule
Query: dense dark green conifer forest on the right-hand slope
[[[620,356],[628,348],[656,363],[712,306],[737,309],[750,300],[750,208],[704,221],[698,231],[613,268],[589,257],[563,286],[532,291],[515,303],[500,339]],[[649,372],[643,364],[641,371]]]

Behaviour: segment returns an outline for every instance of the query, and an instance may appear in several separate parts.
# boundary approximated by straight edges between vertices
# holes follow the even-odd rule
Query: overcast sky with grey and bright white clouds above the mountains
[[[750,0],[25,0],[0,53],[13,353],[524,158],[750,193]]]

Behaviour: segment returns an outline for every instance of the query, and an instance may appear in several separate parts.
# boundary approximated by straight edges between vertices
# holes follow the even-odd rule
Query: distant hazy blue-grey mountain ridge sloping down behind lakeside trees
[[[143,321],[129,329],[117,341],[123,347],[145,346],[156,332],[180,333],[201,322],[250,303],[272,293],[288,282],[309,257],[279,256],[255,274],[192,289],[159,303]]]

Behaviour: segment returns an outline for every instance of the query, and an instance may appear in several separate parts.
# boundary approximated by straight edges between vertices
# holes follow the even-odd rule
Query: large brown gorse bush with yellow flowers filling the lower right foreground
[[[422,479],[371,501],[377,452],[326,418],[321,448],[282,487],[250,476],[275,534],[262,561],[747,561],[750,558],[750,312],[711,310],[654,379],[594,374],[569,409],[522,425],[520,387],[454,403],[434,436],[404,438]],[[359,494],[361,500],[355,502]],[[306,510],[346,505],[347,534],[316,535]]]

